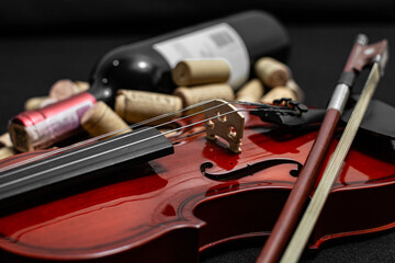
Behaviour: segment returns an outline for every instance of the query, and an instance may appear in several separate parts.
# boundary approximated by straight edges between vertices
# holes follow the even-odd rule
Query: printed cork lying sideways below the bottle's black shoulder
[[[182,108],[182,101],[174,95],[119,90],[115,100],[115,112],[126,122],[140,123],[167,113],[174,113]],[[181,112],[170,114],[147,125],[157,125],[181,116]]]

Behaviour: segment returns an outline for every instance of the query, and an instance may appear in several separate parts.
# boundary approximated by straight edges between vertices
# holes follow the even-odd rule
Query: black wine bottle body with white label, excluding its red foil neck
[[[171,69],[177,62],[222,58],[230,66],[229,84],[237,89],[257,59],[284,60],[287,47],[285,28],[274,18],[248,11],[114,48],[97,62],[90,83],[110,93],[119,89],[170,93],[176,88]],[[113,96],[103,98],[109,99],[111,104]]]

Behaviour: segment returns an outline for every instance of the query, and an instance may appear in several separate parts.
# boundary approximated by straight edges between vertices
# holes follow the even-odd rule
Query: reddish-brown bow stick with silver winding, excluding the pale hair
[[[317,138],[257,262],[279,261],[320,171],[327,149],[358,73],[363,67],[371,65],[373,60],[375,61],[374,65],[381,64],[381,70],[383,70],[386,62],[386,41],[368,45],[368,37],[362,34],[358,35],[345,69],[340,75],[339,82],[329,101]],[[379,61],[376,61],[377,56],[380,57]]]

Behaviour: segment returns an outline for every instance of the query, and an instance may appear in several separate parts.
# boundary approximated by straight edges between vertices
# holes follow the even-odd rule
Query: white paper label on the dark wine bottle
[[[184,59],[221,58],[230,67],[229,85],[239,88],[249,76],[249,55],[240,35],[222,23],[187,35],[155,44],[154,49],[165,57],[171,68]]]

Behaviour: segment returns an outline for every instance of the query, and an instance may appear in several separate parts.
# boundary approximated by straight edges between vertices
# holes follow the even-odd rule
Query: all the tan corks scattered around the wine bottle
[[[291,98],[303,101],[303,92],[292,79],[290,68],[270,57],[260,58],[255,64],[256,78],[245,83],[236,93],[227,84],[230,67],[225,60],[184,60],[172,70],[174,83],[179,87],[173,94],[162,94],[137,90],[119,90],[114,110],[103,102],[97,102],[82,116],[80,124],[92,137],[131,130],[128,123],[145,122],[157,125],[172,118],[194,114],[202,107],[192,105],[212,99],[272,103],[275,99]],[[25,110],[35,110],[86,91],[89,84],[81,81],[59,80],[45,98],[33,98]],[[188,111],[183,108],[189,107]],[[173,113],[173,114],[169,114]],[[157,121],[148,121],[168,114]],[[121,130],[120,133],[117,133]],[[2,146],[2,147],[1,147]],[[0,159],[15,153],[9,135],[0,137]]]

